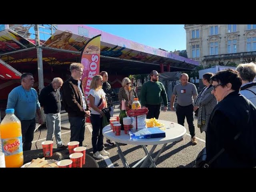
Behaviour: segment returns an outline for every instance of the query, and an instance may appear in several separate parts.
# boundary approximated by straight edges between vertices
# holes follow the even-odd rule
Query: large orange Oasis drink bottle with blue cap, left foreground
[[[0,124],[2,152],[6,167],[23,165],[22,134],[20,120],[14,115],[14,109],[6,109],[6,116]]]

